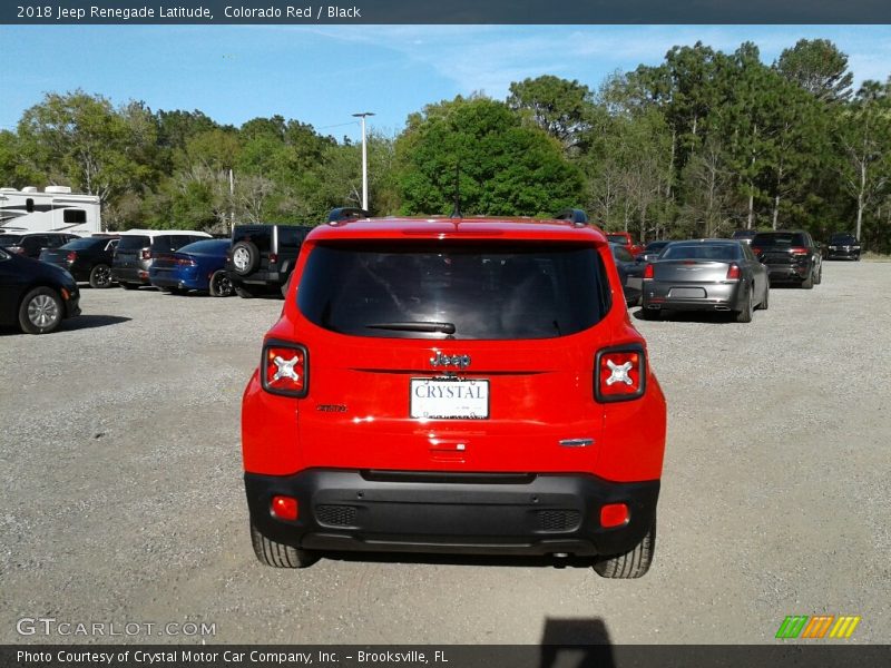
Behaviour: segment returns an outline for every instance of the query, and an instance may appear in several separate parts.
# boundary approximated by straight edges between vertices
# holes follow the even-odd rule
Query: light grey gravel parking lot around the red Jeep
[[[656,560],[633,581],[257,563],[239,405],[281,304],[85,287],[62,331],[0,333],[0,642],[121,640],[17,631],[37,617],[206,622],[207,642],[773,644],[785,616],[828,613],[862,617],[849,642],[891,637],[891,264],[826,263],[746,325],[633,314],[669,409]]]

